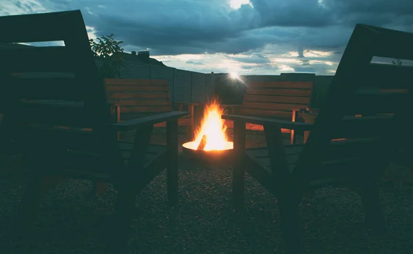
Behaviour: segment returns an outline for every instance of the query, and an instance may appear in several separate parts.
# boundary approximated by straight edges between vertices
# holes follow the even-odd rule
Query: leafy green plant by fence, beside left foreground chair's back
[[[123,65],[120,54],[123,53],[123,47],[120,46],[123,41],[116,41],[113,36],[114,34],[100,36],[100,38],[96,38],[96,41],[89,39],[94,57],[102,64],[98,71],[103,78],[118,76],[120,67]]]

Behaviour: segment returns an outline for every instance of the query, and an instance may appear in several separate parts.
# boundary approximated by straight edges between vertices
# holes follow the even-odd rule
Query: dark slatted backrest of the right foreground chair
[[[401,45],[403,52],[412,52],[412,35],[356,25],[295,167],[301,183],[348,174],[352,170],[349,161],[357,165],[352,173],[372,173],[374,177],[373,173],[379,173],[376,167],[383,169],[389,162],[392,149],[401,145],[400,133],[412,129],[409,112],[413,107],[413,72],[408,66],[371,61],[374,56],[413,59],[410,53],[388,49],[389,41],[401,41],[403,37],[408,40]],[[341,140],[332,141],[335,138]],[[341,162],[347,167],[339,167]],[[323,166],[328,163],[334,163],[335,170]],[[365,167],[366,163],[370,167]],[[330,171],[324,171],[327,168]]]

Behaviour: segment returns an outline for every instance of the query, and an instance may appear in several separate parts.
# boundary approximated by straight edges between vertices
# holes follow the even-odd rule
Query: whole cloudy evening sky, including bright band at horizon
[[[410,0],[0,0],[0,16],[76,9],[90,38],[204,73],[334,74],[356,23],[413,32]]]

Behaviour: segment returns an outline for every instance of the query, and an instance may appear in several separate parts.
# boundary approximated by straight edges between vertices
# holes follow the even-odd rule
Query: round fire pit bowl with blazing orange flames
[[[192,159],[212,164],[226,164],[232,161],[233,142],[226,140],[226,126],[221,119],[223,111],[217,100],[206,105],[195,140],[182,144],[184,154]]]

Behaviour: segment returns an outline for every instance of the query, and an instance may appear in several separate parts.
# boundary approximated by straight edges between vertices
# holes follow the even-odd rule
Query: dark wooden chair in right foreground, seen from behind
[[[411,133],[406,116],[413,106],[413,72],[407,66],[370,62],[373,56],[413,60],[412,44],[413,34],[356,25],[314,125],[222,116],[234,121],[234,205],[242,206],[246,170],[277,195],[289,253],[300,253],[297,207],[308,188],[352,187],[361,195],[368,226],[384,229],[376,182],[394,150],[403,145],[401,136]],[[245,149],[245,123],[264,126],[265,149]],[[284,146],[282,128],[311,132],[306,144]],[[345,140],[332,141],[336,138]]]

